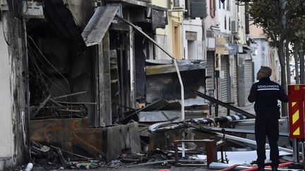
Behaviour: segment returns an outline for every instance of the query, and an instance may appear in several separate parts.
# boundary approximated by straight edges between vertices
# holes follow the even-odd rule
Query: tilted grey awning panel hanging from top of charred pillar
[[[117,6],[97,8],[81,34],[87,46],[100,44],[118,10]]]

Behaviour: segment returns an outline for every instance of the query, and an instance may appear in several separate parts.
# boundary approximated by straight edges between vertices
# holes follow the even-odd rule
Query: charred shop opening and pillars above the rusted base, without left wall
[[[136,15],[133,11],[140,10],[139,14],[160,11],[144,2],[139,4],[124,1],[121,4],[107,1],[107,6],[82,1],[36,3],[37,8],[42,8],[43,13],[39,15],[42,18],[34,18],[28,12],[27,21],[30,102],[36,104],[31,106],[32,118],[52,117],[59,112],[60,117],[78,115],[88,118],[90,125],[102,126],[112,125],[121,119],[126,108],[134,108],[136,96],[143,96],[143,92],[136,91],[136,77],[144,73],[143,69],[140,71],[138,58],[143,61],[145,56],[137,55],[143,50],[137,46],[143,37],[135,35],[132,27],[115,16],[124,14],[133,18]],[[85,13],[77,15],[80,10]],[[152,29],[165,25],[163,22],[163,26],[162,23],[156,26],[160,23],[152,20],[145,23],[146,16],[141,16],[131,22],[143,25],[143,30],[150,34]],[[152,16],[155,19],[160,15]],[[52,108],[45,108],[50,101]]]

